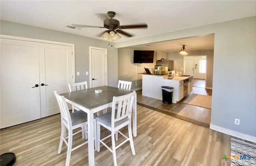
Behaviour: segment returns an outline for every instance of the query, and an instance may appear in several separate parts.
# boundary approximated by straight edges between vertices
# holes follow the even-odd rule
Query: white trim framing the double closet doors
[[[0,38],[71,46],[72,47],[72,83],[75,83],[76,75],[75,75],[75,45],[74,44],[63,43],[63,42],[58,42],[58,41],[33,39],[33,38],[23,38],[23,37],[19,37],[19,36],[9,36],[9,35],[0,35]]]

